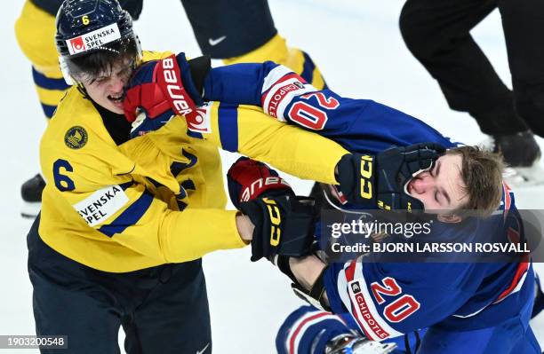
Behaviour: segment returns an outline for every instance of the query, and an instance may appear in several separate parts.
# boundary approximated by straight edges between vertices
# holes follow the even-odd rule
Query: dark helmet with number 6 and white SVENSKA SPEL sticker
[[[141,57],[132,18],[117,0],[65,0],[57,12],[55,43],[67,81],[98,75],[116,60]]]

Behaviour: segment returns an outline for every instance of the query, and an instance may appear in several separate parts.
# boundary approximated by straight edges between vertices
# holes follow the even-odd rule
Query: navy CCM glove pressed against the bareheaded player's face
[[[338,163],[340,192],[362,208],[423,210],[423,203],[405,192],[409,180],[445,152],[435,143],[393,147],[375,156],[346,154]]]

